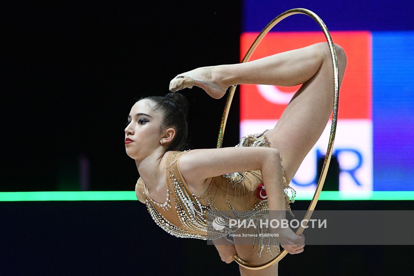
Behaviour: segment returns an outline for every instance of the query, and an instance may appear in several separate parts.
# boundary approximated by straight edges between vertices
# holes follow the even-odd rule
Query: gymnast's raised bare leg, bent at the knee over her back
[[[347,58],[339,45],[335,44],[335,50],[340,87]],[[317,43],[247,63],[201,67],[191,73],[221,87],[236,84],[294,86],[303,83],[276,126],[265,133],[270,147],[279,150],[289,183],[318,141],[332,113],[334,82],[328,44]],[[222,93],[202,82],[195,82],[195,85],[209,94]]]

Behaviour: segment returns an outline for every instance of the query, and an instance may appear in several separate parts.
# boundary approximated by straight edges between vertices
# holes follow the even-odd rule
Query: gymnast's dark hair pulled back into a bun
[[[172,127],[175,130],[175,137],[169,143],[166,151],[188,150],[190,147],[190,145],[187,143],[188,99],[183,94],[178,92],[170,92],[164,97],[149,96],[141,99],[149,99],[152,103],[149,105],[150,108],[153,111],[161,111],[163,113],[161,131],[169,127]]]

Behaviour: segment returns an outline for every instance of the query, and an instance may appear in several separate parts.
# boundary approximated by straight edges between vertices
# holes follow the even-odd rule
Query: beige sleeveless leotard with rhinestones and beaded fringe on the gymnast
[[[265,131],[255,135],[246,135],[236,147],[269,147],[264,133]],[[137,181],[138,192],[145,199],[147,209],[157,225],[176,237],[215,240],[238,230],[238,228],[229,227],[226,223],[220,223],[221,227],[217,227],[217,218],[221,218],[221,222],[229,221],[229,219],[268,218],[269,204],[267,196],[263,196],[264,193],[261,190],[263,184],[260,170],[234,172],[213,177],[207,191],[202,195],[195,195],[188,188],[179,166],[180,157],[189,151],[172,151],[167,157],[165,166],[167,195],[164,203],[157,203],[148,196],[141,177]],[[285,174],[283,180],[286,210],[291,212],[289,203],[294,202],[296,192],[286,183]],[[288,196],[289,190],[291,197]],[[293,216],[292,213],[291,215]],[[261,228],[257,230],[262,231]],[[261,242],[263,238],[261,240],[258,238],[259,256],[263,250]],[[270,248],[269,242],[268,249]],[[276,252],[279,253],[279,245],[276,241],[274,245]]]

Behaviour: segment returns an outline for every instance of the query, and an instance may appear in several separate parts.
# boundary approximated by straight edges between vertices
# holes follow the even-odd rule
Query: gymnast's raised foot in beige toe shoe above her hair
[[[170,91],[176,92],[193,85],[202,88],[214,99],[220,99],[226,94],[230,85],[224,81],[220,66],[207,66],[177,75],[170,82]]]

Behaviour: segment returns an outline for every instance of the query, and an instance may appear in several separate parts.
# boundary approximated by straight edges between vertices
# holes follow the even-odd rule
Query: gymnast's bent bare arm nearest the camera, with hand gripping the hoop
[[[195,183],[204,183],[205,179],[222,174],[260,169],[269,202],[270,219],[279,222],[286,219],[283,172],[277,149],[229,147],[190,150],[180,157],[179,166],[184,179],[198,179]],[[290,228],[272,230],[279,234],[278,239],[287,252],[296,254],[303,251],[303,235],[296,235]]]

